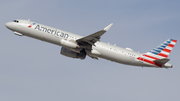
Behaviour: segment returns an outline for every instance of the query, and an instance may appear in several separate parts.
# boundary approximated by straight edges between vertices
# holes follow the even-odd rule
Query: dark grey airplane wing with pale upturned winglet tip
[[[78,40],[76,40],[76,42],[84,45],[84,44],[90,44],[90,45],[94,45],[94,43],[96,41],[99,41],[99,39],[101,38],[101,36],[108,31],[108,29],[112,26],[113,24],[111,23],[110,25],[108,25],[107,27],[105,27],[103,30],[100,30],[96,33],[93,33],[91,35],[88,35],[86,37],[80,38]]]

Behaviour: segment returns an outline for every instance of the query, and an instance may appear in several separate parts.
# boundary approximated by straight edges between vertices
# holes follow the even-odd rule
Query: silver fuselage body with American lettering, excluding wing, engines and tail
[[[6,27],[12,30],[17,35],[24,35],[28,37],[32,37],[35,39],[39,39],[42,41],[46,41],[52,44],[56,44],[59,46],[63,46],[61,44],[62,39],[67,40],[77,40],[82,38],[83,36],[73,34],[70,32],[66,32],[63,30],[59,30],[56,28],[52,28],[43,24],[39,24],[36,22],[28,21],[28,20],[18,20],[19,22],[8,22],[6,23]],[[63,46],[66,47],[66,46]],[[134,65],[134,66],[142,66],[142,67],[158,67],[156,65],[141,61],[137,59],[138,57],[142,57],[141,53],[134,52],[130,49],[124,49],[115,45],[111,45],[108,43],[97,41],[95,45],[92,46],[92,49],[95,52],[88,52],[87,55],[93,57],[100,57],[103,59],[107,59],[110,61],[126,64],[126,65]]]

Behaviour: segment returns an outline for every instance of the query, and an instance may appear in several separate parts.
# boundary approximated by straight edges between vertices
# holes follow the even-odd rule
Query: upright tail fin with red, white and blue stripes
[[[146,58],[149,58],[150,60],[159,60],[159,59],[167,58],[171,50],[173,49],[174,45],[176,44],[176,42],[177,40],[168,39],[167,41],[162,43],[160,46],[143,54],[143,56],[145,56]]]

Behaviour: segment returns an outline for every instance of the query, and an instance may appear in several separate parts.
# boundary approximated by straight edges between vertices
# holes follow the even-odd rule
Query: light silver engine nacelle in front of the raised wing
[[[64,47],[69,47],[69,48],[78,48],[79,45],[75,41],[72,40],[67,40],[67,39],[61,39],[60,44]]]

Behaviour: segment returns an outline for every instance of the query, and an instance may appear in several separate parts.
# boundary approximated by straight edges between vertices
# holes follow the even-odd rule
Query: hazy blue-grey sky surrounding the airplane
[[[180,40],[179,0],[4,0],[0,3],[1,101],[180,101],[180,43],[172,69],[133,67],[104,59],[72,59],[61,47],[19,37],[5,27],[32,21],[82,36],[111,29],[101,41],[147,52]]]

